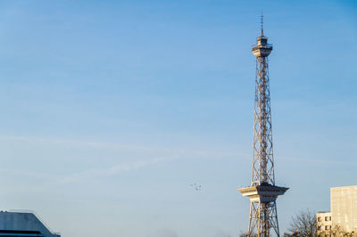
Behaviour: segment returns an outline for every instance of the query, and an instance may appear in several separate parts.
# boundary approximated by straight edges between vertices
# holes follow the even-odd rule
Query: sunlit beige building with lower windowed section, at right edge
[[[357,232],[357,186],[330,188],[330,212],[319,212],[318,235],[327,233],[334,226],[346,232]]]

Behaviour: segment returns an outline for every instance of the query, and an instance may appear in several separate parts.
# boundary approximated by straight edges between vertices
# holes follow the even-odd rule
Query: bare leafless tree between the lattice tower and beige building
[[[284,233],[285,237],[315,237],[317,234],[316,215],[309,210],[301,211],[292,218],[292,222],[287,230],[289,233]]]

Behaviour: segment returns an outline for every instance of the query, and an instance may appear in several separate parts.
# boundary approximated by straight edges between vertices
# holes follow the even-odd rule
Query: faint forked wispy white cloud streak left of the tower
[[[58,184],[70,184],[73,182],[79,182],[84,179],[97,178],[102,176],[115,176],[120,172],[129,172],[139,168],[146,168],[154,166],[155,164],[168,162],[173,159],[225,159],[228,157],[247,157],[247,154],[240,154],[238,152],[229,151],[212,151],[212,150],[183,150],[183,149],[168,149],[164,147],[154,146],[136,146],[121,143],[101,143],[101,142],[87,142],[78,140],[65,140],[65,139],[53,139],[53,138],[41,138],[41,137],[28,137],[28,136],[0,136],[0,140],[3,141],[15,141],[21,143],[44,143],[46,144],[58,144],[59,146],[76,146],[76,147],[91,147],[98,150],[110,150],[120,154],[120,151],[133,151],[136,153],[136,159],[125,159],[127,161],[121,161],[107,168],[89,168],[87,170],[81,170],[73,174],[67,175],[52,175],[51,180]],[[60,148],[61,149],[61,148]],[[137,151],[139,151],[137,153]],[[128,152],[126,152],[128,153]],[[141,156],[142,154],[142,156]],[[141,157],[140,157],[141,156]],[[100,158],[99,158],[100,159]],[[119,160],[119,159],[118,159]],[[123,159],[121,159],[123,160]],[[36,174],[35,174],[36,175]]]

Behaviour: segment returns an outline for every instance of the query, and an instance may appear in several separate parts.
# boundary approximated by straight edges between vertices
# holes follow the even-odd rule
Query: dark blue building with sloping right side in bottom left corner
[[[0,236],[61,237],[52,233],[32,212],[0,211]]]

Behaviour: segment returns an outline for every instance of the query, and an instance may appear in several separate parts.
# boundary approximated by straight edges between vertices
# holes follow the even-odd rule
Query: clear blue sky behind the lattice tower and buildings
[[[357,184],[353,1],[2,1],[1,207],[62,236],[244,231],[261,12],[281,232],[328,210]]]

